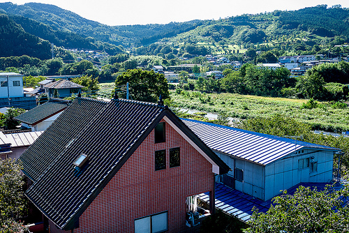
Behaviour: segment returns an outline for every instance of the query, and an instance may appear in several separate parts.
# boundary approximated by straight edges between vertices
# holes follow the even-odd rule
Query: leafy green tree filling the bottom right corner
[[[294,195],[283,191],[267,213],[254,210],[246,232],[348,232],[349,209],[343,202],[348,196],[348,186],[322,191],[299,186]]]

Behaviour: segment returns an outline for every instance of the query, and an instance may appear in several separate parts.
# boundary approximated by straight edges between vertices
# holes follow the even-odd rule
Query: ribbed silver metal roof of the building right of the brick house
[[[339,151],[329,146],[255,133],[214,123],[182,119],[200,139],[214,151],[268,165],[299,149]]]

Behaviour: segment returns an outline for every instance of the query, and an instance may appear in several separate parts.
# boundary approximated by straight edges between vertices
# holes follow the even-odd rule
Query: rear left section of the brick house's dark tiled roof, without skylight
[[[36,181],[64,151],[66,144],[103,110],[107,103],[81,98],[75,100],[49,128],[22,153],[23,172]]]

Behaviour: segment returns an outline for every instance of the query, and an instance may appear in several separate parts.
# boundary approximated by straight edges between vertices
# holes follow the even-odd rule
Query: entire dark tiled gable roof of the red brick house
[[[230,170],[167,106],[76,98],[20,157],[24,172],[36,180],[27,197],[61,229],[73,229],[161,119],[193,142],[210,163],[218,165],[220,173]],[[73,163],[82,153],[89,156],[89,162],[77,176]]]

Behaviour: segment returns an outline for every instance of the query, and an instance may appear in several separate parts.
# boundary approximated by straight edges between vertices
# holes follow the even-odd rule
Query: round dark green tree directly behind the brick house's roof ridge
[[[154,73],[154,70],[127,70],[117,77],[115,87],[124,86],[127,82],[129,84],[129,95],[133,100],[156,103],[160,95],[163,99],[170,98],[165,75]],[[122,94],[123,97],[125,95],[126,93]]]

